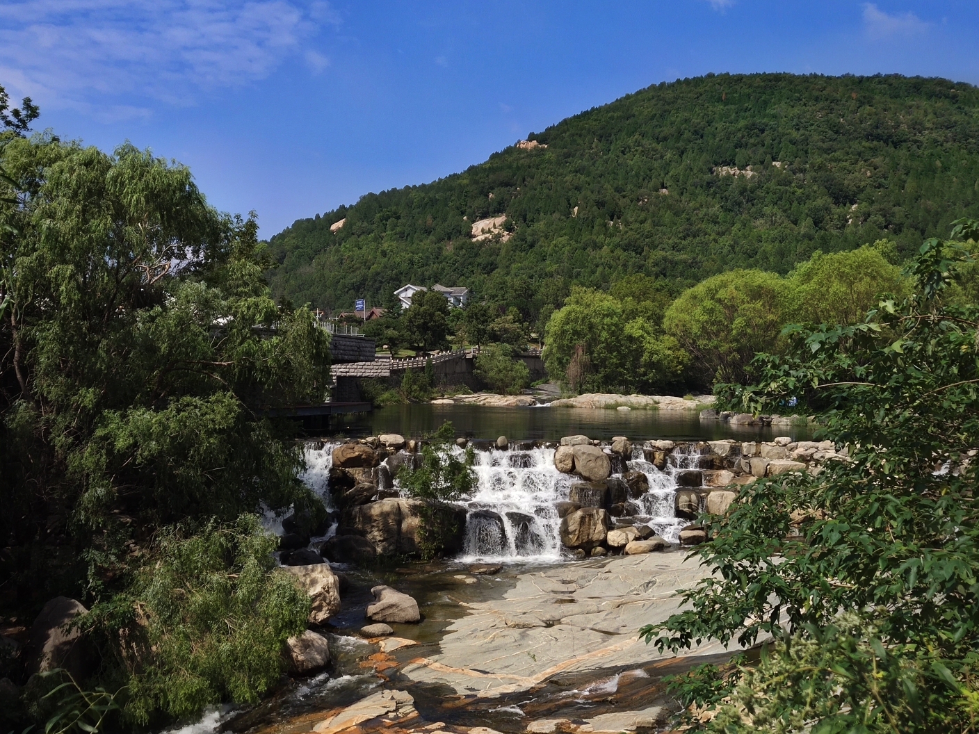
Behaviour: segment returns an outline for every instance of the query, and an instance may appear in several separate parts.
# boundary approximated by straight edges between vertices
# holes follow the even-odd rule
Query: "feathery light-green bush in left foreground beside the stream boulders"
[[[79,619],[114,654],[104,675],[127,686],[128,720],[256,703],[277,683],[283,644],[309,614],[292,577],[274,571],[277,543],[252,515],[166,528],[126,593]]]

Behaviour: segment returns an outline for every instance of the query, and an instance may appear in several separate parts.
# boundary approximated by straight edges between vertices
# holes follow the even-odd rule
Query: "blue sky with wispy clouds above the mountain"
[[[263,236],[708,71],[979,83],[979,3],[0,0],[0,84],[39,125],[191,166]]]

